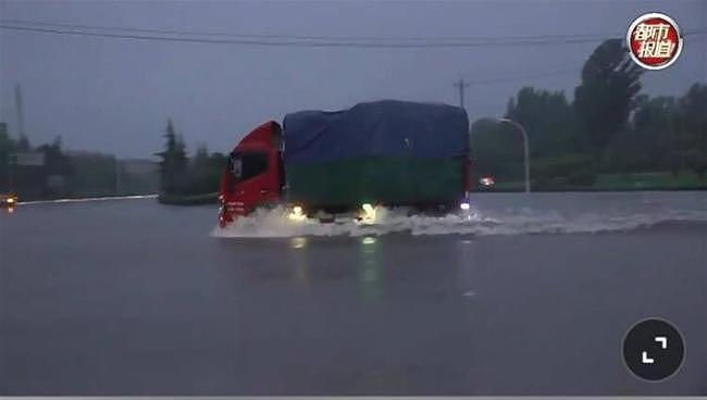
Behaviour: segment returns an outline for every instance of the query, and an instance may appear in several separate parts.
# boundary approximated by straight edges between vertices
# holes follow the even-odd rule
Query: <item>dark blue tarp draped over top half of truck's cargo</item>
[[[467,112],[447,104],[382,100],[335,112],[285,115],[285,162],[469,153]]]

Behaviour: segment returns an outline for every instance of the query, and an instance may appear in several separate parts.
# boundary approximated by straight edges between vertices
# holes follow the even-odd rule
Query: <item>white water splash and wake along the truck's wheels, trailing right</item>
[[[665,210],[661,212],[593,211],[562,214],[530,208],[468,212],[431,216],[409,215],[407,209],[376,208],[375,224],[354,218],[320,223],[309,218],[290,221],[284,209],[258,210],[225,228],[214,228],[211,236],[224,238],[283,238],[301,236],[377,236],[390,233],[411,235],[474,236],[522,234],[575,234],[631,230],[665,222],[707,222],[707,211]]]

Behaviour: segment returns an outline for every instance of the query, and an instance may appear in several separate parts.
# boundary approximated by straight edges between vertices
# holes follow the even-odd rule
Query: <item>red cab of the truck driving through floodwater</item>
[[[282,128],[266,122],[246,135],[228,157],[221,179],[222,227],[256,208],[281,202],[285,185]]]

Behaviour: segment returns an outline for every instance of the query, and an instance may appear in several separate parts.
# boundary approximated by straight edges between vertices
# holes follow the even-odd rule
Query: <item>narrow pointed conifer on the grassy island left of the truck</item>
[[[168,120],[164,138],[166,139],[164,151],[157,153],[162,159],[160,161],[160,189],[166,193],[176,193],[182,190],[187,158],[184,140],[177,137],[172,120]]]

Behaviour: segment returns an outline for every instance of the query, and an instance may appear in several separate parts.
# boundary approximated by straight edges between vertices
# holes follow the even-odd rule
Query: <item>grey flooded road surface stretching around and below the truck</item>
[[[474,200],[280,238],[153,199],[3,212],[0,395],[707,393],[707,193]],[[657,384],[621,359],[648,316],[686,345]]]

